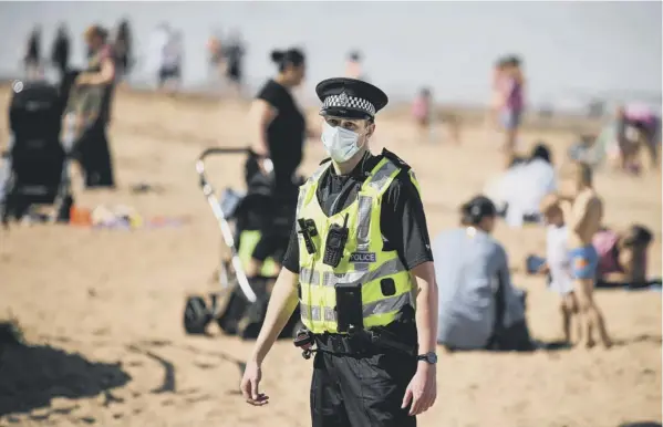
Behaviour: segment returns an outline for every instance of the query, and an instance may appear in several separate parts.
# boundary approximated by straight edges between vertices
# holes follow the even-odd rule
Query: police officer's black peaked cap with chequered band
[[[322,101],[322,116],[374,118],[389,103],[389,97],[381,88],[356,79],[323,80],[315,86],[315,93]]]

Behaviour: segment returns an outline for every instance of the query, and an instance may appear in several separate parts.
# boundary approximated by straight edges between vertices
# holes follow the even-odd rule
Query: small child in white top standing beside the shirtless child
[[[564,342],[571,342],[571,317],[578,314],[578,301],[573,292],[571,262],[568,251],[568,229],[564,223],[560,198],[550,194],[541,201],[541,214],[548,225],[546,235],[546,260],[537,273],[549,278],[549,289],[560,296],[560,312]]]

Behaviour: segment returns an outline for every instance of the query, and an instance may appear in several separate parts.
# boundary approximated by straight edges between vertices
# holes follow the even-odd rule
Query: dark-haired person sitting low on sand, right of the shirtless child
[[[600,282],[617,281],[639,288],[646,283],[646,252],[652,232],[641,225],[632,225],[625,232],[603,228],[592,239],[599,254],[597,277]]]

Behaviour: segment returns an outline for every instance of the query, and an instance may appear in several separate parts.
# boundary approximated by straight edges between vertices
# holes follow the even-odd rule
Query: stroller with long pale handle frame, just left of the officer
[[[248,155],[245,178],[248,191],[242,195],[226,189],[221,200],[205,175],[205,158],[211,155]],[[265,212],[270,212],[267,225],[281,236],[289,236],[294,219],[292,202],[274,204],[270,177],[257,168],[257,156],[248,148],[209,148],[196,163],[200,188],[216,217],[222,237],[221,259],[215,280],[218,291],[209,295],[189,295],[184,310],[184,329],[188,334],[205,334],[209,323],[216,321],[229,335],[255,339],[262,325],[269,301],[270,285],[279,274],[278,253],[271,253],[260,275],[249,280],[245,268],[253,248],[265,230]],[[292,314],[282,336],[293,336],[299,324],[299,309]]]

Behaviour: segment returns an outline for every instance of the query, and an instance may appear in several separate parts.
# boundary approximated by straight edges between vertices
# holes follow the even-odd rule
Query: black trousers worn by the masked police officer
[[[318,352],[311,382],[313,427],[416,427],[410,408],[401,409],[416,365],[416,358],[398,352]]]

